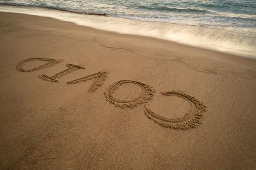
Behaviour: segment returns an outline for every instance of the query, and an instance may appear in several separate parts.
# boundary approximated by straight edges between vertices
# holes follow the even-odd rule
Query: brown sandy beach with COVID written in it
[[[256,169],[256,60],[0,12],[1,170]]]

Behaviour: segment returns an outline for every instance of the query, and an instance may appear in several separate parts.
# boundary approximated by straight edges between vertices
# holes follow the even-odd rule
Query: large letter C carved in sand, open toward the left
[[[149,119],[153,120],[155,123],[160,124],[163,127],[171,128],[171,129],[181,129],[181,130],[187,130],[190,128],[195,128],[198,124],[201,124],[199,119],[202,119],[203,112],[206,112],[206,106],[198,101],[196,98],[182,93],[178,91],[167,91],[167,92],[161,92],[162,95],[166,96],[177,96],[181,97],[185,100],[187,100],[190,103],[190,109],[189,111],[183,115],[180,118],[165,118],[162,116],[157,115],[150,109],[148,109],[146,106],[144,106],[144,113],[148,116]]]

